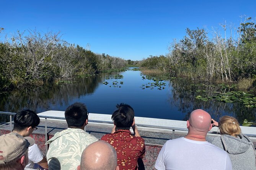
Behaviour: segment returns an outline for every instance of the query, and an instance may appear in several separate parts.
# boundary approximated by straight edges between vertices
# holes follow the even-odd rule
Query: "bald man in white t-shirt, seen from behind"
[[[232,170],[227,152],[205,140],[212,128],[209,113],[192,111],[187,128],[187,136],[164,144],[155,163],[157,170]]]

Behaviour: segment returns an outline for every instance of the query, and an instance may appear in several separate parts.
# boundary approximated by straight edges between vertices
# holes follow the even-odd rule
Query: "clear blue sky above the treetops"
[[[219,27],[256,17],[256,0],[1,0],[0,27],[61,31],[62,39],[124,59],[165,55],[185,29]]]

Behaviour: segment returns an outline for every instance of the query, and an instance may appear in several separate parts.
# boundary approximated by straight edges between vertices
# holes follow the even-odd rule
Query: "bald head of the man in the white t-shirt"
[[[196,109],[189,116],[189,130],[208,132],[211,126],[211,116],[202,109]]]

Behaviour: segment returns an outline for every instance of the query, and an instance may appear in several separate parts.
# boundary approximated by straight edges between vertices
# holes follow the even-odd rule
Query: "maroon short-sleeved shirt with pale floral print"
[[[143,158],[145,142],[143,138],[133,136],[130,130],[117,130],[102,136],[101,140],[107,141],[117,153],[117,165],[120,170],[137,170],[138,158]]]

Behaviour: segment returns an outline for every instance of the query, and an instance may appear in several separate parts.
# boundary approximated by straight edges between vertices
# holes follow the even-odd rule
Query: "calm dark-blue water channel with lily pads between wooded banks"
[[[123,75],[123,78],[114,79],[116,74]],[[112,114],[116,104],[127,103],[134,108],[135,116],[139,117],[187,120],[192,110],[201,108],[217,120],[222,115],[231,115],[240,123],[244,119],[255,121],[256,108],[244,107],[242,103],[196,99],[197,95],[201,95],[196,90],[205,87],[193,86],[188,80],[164,80],[162,81],[166,83],[166,86],[162,86],[164,89],[159,90],[158,87],[143,89],[154,81],[143,79],[142,76],[140,71],[131,70],[101,73],[88,78],[76,78],[72,84],[53,84],[33,90],[2,93],[0,111],[18,112],[20,109],[31,109],[36,112],[65,111],[68,105],[82,102],[86,104],[89,112]],[[1,115],[0,122],[4,119]]]

